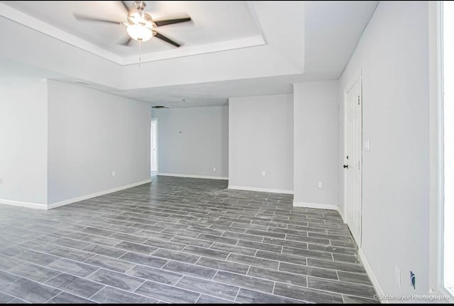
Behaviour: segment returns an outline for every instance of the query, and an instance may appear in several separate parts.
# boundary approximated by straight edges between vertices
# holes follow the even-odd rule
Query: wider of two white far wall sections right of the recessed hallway
[[[228,143],[229,187],[293,192],[292,94],[228,99]]]

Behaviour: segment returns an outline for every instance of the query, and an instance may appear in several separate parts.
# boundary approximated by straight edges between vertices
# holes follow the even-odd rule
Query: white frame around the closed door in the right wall
[[[355,84],[357,82],[360,82],[360,91],[361,91],[361,102],[360,102],[360,116],[361,116],[361,124],[360,124],[360,130],[361,130],[361,143],[360,143],[360,184],[361,184],[361,187],[360,187],[360,191],[361,191],[361,196],[360,196],[360,203],[361,203],[361,221],[360,221],[360,232],[358,233],[359,236],[360,236],[360,241],[355,241],[356,244],[358,244],[358,247],[361,247],[361,243],[362,243],[362,146],[363,146],[363,139],[362,139],[362,102],[364,101],[364,98],[362,96],[362,69],[358,70],[358,72],[356,72],[353,77],[350,79],[350,81],[347,83],[347,86],[344,87],[343,89],[343,152],[342,152],[342,165],[344,164],[344,161],[345,161],[345,156],[347,155],[347,146],[345,146],[345,144],[347,143],[347,134],[345,133],[346,129],[345,129],[345,126],[346,126],[346,122],[347,122],[347,107],[346,104],[347,104],[347,93],[348,91],[350,91],[350,89],[352,89],[353,86],[355,86]],[[341,165],[341,167],[342,167]],[[346,192],[346,188],[347,188],[347,185],[345,184],[346,182],[346,177],[347,177],[347,172],[345,170],[343,170],[343,204],[344,204],[344,207],[343,207],[343,220],[344,220],[344,223],[348,225],[347,223],[347,212],[348,212],[348,209],[347,209],[347,201],[346,201],[346,197],[347,197],[347,192]]]

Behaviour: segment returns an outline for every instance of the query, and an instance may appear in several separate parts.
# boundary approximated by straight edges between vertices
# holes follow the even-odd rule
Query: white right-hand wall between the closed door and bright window
[[[362,252],[384,293],[426,294],[427,1],[380,2],[343,72],[339,101],[360,69],[363,140],[370,139],[370,151],[363,151]],[[341,129],[342,114],[341,109]],[[343,186],[342,173],[339,178]],[[396,266],[402,271],[402,288],[397,286]],[[416,290],[410,286],[410,271],[416,274]]]

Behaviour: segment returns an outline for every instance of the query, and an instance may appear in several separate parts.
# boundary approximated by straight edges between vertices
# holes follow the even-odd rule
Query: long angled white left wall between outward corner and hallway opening
[[[50,204],[150,179],[148,103],[51,80],[48,96]]]

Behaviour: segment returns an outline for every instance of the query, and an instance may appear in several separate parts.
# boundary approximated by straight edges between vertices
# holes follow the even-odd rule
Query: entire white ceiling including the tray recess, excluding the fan
[[[87,87],[170,107],[225,105],[228,97],[289,94],[294,82],[337,79],[377,6],[148,1],[146,11],[156,20],[187,14],[193,22],[163,26],[162,34],[185,44],[143,43],[139,67],[136,48],[116,45],[126,36],[122,26],[72,17],[121,21],[119,1],[1,2],[0,28],[9,43],[0,48],[0,80],[17,66],[15,75],[83,80]]]

